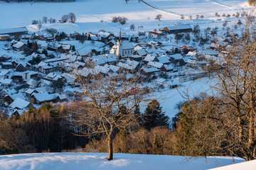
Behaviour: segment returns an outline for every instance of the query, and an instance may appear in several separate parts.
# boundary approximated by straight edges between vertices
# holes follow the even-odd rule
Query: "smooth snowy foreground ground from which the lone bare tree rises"
[[[203,170],[233,164],[230,157],[194,159],[184,162],[185,157],[143,154],[114,154],[114,160],[107,161],[107,154],[98,153],[46,153],[46,154],[11,154],[0,156],[0,169],[4,170],[65,170],[65,169],[175,169]],[[235,163],[244,162],[235,158]]]

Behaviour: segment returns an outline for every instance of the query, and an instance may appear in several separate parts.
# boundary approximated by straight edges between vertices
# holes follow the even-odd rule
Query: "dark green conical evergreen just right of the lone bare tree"
[[[143,115],[144,128],[150,130],[156,126],[169,127],[169,117],[161,111],[159,102],[154,99],[146,107],[146,111]]]

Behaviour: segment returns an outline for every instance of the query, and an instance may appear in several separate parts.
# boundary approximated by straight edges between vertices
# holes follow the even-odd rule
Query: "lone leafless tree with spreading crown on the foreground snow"
[[[112,160],[114,136],[119,130],[129,131],[137,125],[138,115],[133,110],[146,94],[141,86],[142,75],[138,69],[122,69],[119,74],[108,76],[100,73],[100,67],[88,65],[74,70],[73,76],[82,91],[81,97],[86,99],[70,111],[75,128],[82,135],[105,135],[107,159]]]

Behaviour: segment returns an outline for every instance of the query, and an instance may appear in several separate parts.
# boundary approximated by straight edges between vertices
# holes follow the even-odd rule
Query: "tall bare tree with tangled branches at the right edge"
[[[240,36],[235,28],[230,30],[233,46],[220,45],[218,60],[210,67],[218,81],[215,89],[223,99],[220,114],[229,130],[225,145],[233,155],[247,161],[256,159],[256,23],[252,16],[255,11],[239,25]]]

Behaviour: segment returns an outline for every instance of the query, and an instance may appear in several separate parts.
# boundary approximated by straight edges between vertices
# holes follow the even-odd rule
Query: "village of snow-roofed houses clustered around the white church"
[[[94,74],[103,75],[136,70],[147,78],[144,86],[153,84],[147,86],[151,91],[174,89],[184,81],[206,77],[207,59],[216,57],[217,52],[198,50],[186,43],[175,45],[170,38],[192,39],[195,29],[168,26],[151,30],[147,33],[150,39],[145,33],[131,36],[122,30],[119,35],[105,30],[82,35],[54,29],[28,33],[26,27],[0,30],[1,109],[9,115],[21,115],[30,106],[38,108],[44,102],[76,100],[82,92],[76,88],[74,70],[87,73],[84,77],[92,68],[97,69]],[[84,47],[78,49],[77,44]],[[215,48],[214,44],[208,46]]]

